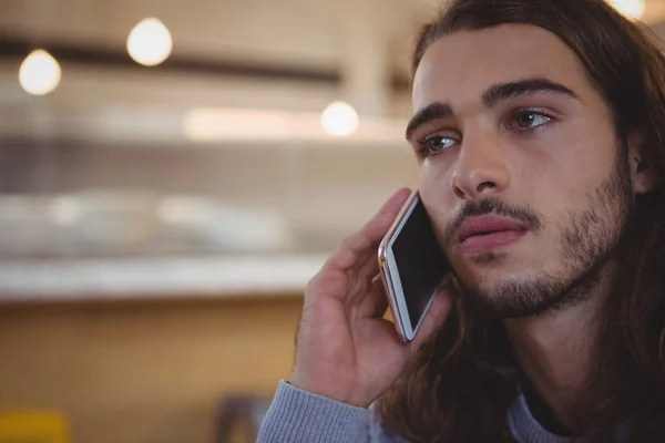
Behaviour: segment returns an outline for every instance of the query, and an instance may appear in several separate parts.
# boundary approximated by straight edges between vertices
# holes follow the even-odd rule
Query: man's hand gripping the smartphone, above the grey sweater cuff
[[[388,299],[377,279],[378,246],[408,196],[408,189],[395,194],[307,285],[290,380],[295,387],[367,408],[396,382],[448,316],[453,296],[443,289],[413,341],[401,341],[392,322],[383,319]]]

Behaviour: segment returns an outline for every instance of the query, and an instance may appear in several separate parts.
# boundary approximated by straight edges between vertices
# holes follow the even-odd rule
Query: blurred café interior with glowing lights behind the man
[[[0,0],[0,442],[252,441],[437,6]]]

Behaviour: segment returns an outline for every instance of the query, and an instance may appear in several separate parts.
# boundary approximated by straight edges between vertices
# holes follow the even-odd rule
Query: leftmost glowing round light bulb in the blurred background
[[[60,64],[43,49],[34,50],[19,68],[19,83],[32,95],[45,95],[60,84]]]

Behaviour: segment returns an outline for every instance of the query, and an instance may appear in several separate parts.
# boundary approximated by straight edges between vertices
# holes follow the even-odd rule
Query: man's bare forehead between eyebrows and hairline
[[[426,51],[413,78],[413,110],[432,101],[480,102],[498,83],[542,78],[583,95],[592,89],[577,55],[552,32],[530,24],[460,31]]]

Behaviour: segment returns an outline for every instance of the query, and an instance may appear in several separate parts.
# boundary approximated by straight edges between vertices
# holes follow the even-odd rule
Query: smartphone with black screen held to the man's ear
[[[379,271],[396,329],[411,341],[451,268],[413,192],[379,246]]]

